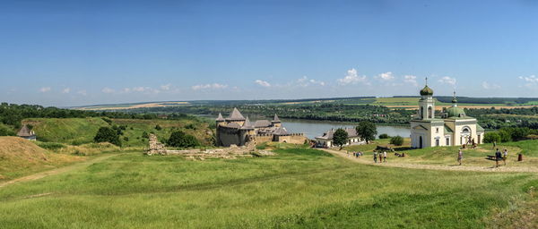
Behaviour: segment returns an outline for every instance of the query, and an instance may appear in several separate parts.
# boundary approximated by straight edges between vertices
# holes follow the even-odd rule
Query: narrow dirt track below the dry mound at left
[[[60,168],[56,168],[56,169],[53,169],[53,170],[40,172],[38,174],[31,174],[31,175],[23,176],[23,177],[13,179],[13,180],[8,181],[8,182],[0,182],[0,188],[3,188],[4,186],[10,185],[10,184],[13,184],[13,183],[16,183],[16,182],[29,182],[29,181],[39,180],[39,179],[41,179],[43,177],[47,177],[49,175],[62,174],[62,173],[68,172],[68,171],[73,171],[74,169],[87,167],[89,165],[93,165],[94,163],[104,161],[104,160],[106,160],[106,159],[108,159],[110,157],[115,157],[117,155],[118,154],[103,155],[103,156],[95,157],[95,158],[92,158],[90,160],[87,160],[87,161],[84,161],[84,162],[81,162],[81,163],[77,163],[77,164],[74,164],[74,165],[67,165],[65,167],[60,167]]]

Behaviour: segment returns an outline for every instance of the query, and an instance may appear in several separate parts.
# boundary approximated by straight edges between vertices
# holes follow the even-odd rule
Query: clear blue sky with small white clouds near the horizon
[[[0,101],[538,97],[535,1],[2,1]]]

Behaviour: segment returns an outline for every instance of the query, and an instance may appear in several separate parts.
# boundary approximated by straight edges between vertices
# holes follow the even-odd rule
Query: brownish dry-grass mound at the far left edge
[[[0,181],[82,160],[82,157],[49,153],[29,140],[0,137]]]

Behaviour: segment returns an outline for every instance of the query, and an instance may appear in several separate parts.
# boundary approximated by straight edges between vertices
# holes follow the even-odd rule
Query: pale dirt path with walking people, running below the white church
[[[503,172],[503,173],[538,173],[538,167],[489,167],[489,166],[459,166],[459,165],[421,165],[421,164],[410,164],[410,163],[398,163],[398,162],[387,162],[387,163],[378,163],[374,164],[370,157],[352,157],[343,152],[334,149],[322,148],[325,152],[331,153],[333,155],[349,159],[353,162],[364,164],[364,165],[379,165],[386,167],[401,167],[401,168],[412,168],[412,169],[430,169],[430,170],[449,170],[449,171],[477,171],[477,172]]]

